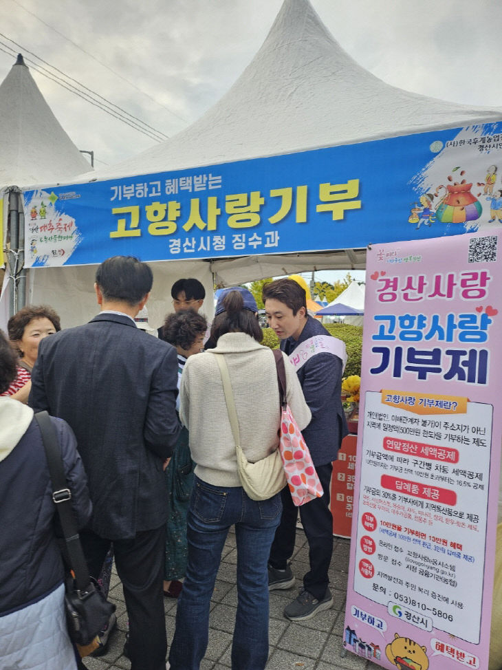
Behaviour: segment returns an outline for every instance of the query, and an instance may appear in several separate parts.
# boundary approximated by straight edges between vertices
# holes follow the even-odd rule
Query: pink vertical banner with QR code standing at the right
[[[488,667],[502,417],[502,234],[373,246],[345,648]]]

